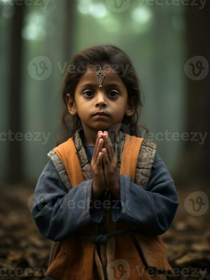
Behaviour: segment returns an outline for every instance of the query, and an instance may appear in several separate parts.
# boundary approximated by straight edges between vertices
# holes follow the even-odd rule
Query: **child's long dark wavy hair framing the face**
[[[118,75],[120,75],[123,83],[126,86],[128,93],[128,101],[133,99],[135,102],[135,112],[130,117],[124,115],[122,124],[127,125],[130,130],[130,135],[135,135],[137,137],[141,137],[141,133],[139,132],[138,127],[143,127],[147,132],[148,129],[145,125],[138,125],[137,122],[139,120],[139,115],[141,113],[141,107],[143,107],[141,101],[141,94],[143,94],[141,90],[141,84],[137,77],[136,71],[131,63],[131,60],[127,56],[127,54],[122,51],[122,49],[114,46],[114,45],[95,45],[92,47],[88,47],[79,51],[73,56],[73,59],[70,65],[74,65],[74,71],[69,71],[68,68],[67,73],[65,74],[65,78],[63,81],[63,86],[61,89],[62,99],[63,99],[63,109],[61,112],[61,119],[59,123],[59,138],[57,139],[56,145],[65,142],[75,135],[77,129],[82,128],[81,120],[77,115],[72,116],[67,109],[66,102],[66,94],[69,93],[71,97],[75,96],[75,89],[77,84],[79,83],[79,79],[82,75],[81,71],[77,71],[77,69],[83,69],[83,73],[85,69],[87,70],[87,65],[110,65],[113,67],[117,67]],[[125,69],[127,69],[125,71]],[[139,111],[139,112],[138,112]]]

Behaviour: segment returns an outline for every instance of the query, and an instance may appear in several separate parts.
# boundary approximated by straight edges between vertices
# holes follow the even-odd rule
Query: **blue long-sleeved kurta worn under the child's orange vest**
[[[91,162],[94,146],[84,147]],[[120,202],[111,194],[113,221],[137,226],[146,234],[166,232],[176,214],[179,199],[174,181],[157,152],[146,190],[133,183],[129,175],[118,174],[118,177]],[[91,192],[92,179],[68,192],[50,159],[34,192],[32,216],[40,233],[52,241],[59,241],[90,223],[100,223],[104,215],[104,192],[98,198],[101,203],[96,204],[97,209],[90,209],[87,205]]]

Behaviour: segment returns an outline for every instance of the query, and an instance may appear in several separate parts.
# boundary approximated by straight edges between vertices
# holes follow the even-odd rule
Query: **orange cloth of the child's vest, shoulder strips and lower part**
[[[130,175],[134,182],[139,151],[144,138],[125,134],[120,174]],[[77,155],[73,137],[53,149],[62,161],[72,187],[84,181],[83,171]],[[119,222],[113,222],[111,209],[107,212],[107,233],[137,229]],[[98,235],[99,225],[84,227],[80,233]],[[166,271],[172,272],[168,264],[166,246],[159,235],[124,233],[108,237],[100,243],[100,260],[96,243],[83,237],[69,235],[57,241],[52,263],[45,276],[58,280],[105,280],[105,279],[167,279]],[[146,269],[153,268],[153,276]],[[162,269],[162,276],[155,275],[155,269]],[[151,272],[151,270],[150,270]],[[49,278],[50,279],[50,278]]]

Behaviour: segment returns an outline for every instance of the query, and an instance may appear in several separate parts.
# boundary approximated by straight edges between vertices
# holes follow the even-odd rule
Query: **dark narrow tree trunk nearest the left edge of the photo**
[[[16,133],[21,133],[21,56],[22,56],[22,24],[24,16],[24,4],[14,5],[15,13],[11,24],[11,42],[10,42],[10,61],[9,61],[9,79],[8,79],[8,100],[9,117],[8,131],[11,130],[11,141],[7,142],[8,156],[6,168],[6,181],[8,183],[17,183],[22,178],[22,141],[15,139]],[[17,135],[18,136],[18,135]],[[19,138],[20,135],[19,135]]]

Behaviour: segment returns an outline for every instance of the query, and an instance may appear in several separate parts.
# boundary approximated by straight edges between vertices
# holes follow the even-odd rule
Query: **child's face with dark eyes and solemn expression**
[[[78,114],[83,129],[108,130],[121,124],[124,114],[132,115],[134,104],[127,104],[127,89],[120,76],[110,67],[103,70],[106,76],[99,87],[96,70],[86,71],[80,78],[75,90],[75,102],[67,93],[67,104],[72,115]],[[90,84],[91,85],[87,85]],[[115,85],[112,85],[112,84]],[[103,111],[106,116],[94,116]]]

